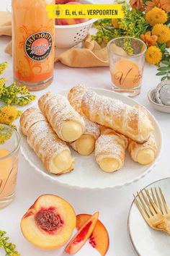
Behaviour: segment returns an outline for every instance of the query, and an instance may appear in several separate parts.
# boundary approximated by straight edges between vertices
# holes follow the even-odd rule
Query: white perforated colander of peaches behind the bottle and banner
[[[56,0],[56,4],[92,4],[88,0]],[[55,46],[71,48],[81,43],[97,19],[55,19]]]

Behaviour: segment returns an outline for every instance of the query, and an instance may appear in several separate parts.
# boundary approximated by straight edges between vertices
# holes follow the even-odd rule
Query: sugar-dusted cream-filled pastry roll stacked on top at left
[[[73,142],[84,133],[84,119],[63,95],[46,93],[39,99],[38,106],[61,140]]]

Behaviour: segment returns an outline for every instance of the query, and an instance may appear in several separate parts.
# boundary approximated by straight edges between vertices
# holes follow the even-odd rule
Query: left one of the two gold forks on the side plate
[[[161,210],[158,208],[155,202],[153,202],[148,190],[140,190],[140,193],[137,192],[137,196],[133,196],[135,198],[135,204],[138,206],[138,209],[140,210],[140,213],[142,214],[146,223],[148,223],[148,226],[151,226],[152,229],[156,229],[158,231],[164,231],[170,235],[168,221],[161,213]]]

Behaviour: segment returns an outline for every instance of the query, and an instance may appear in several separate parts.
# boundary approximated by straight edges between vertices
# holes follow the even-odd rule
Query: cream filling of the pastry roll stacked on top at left
[[[61,134],[63,136],[63,140],[66,140],[67,142],[73,142],[81,137],[83,134],[83,129],[81,124],[76,121],[66,121],[63,124]]]

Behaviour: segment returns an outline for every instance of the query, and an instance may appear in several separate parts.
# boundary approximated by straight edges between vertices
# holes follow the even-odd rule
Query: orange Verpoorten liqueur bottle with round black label
[[[12,0],[14,80],[29,90],[42,90],[53,81],[54,20],[47,4],[55,0]]]

